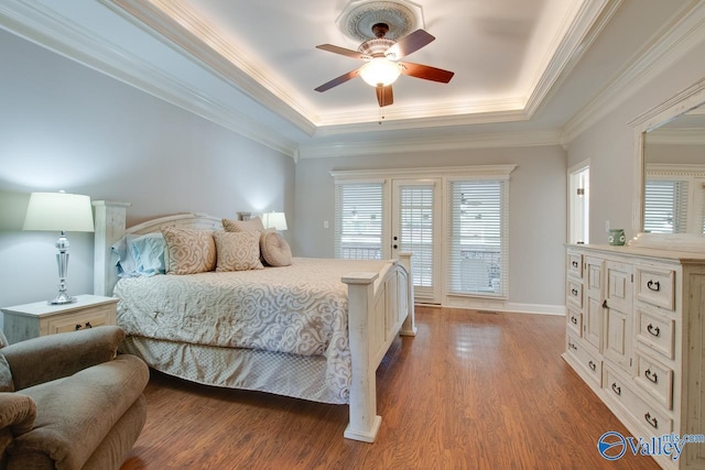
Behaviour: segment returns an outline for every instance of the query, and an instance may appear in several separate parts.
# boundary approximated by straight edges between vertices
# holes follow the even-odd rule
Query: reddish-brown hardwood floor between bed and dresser
[[[563,317],[416,308],[377,371],[375,444],[347,406],[196,385],[152,372],[134,469],[658,469],[597,439],[630,436],[561,359]]]

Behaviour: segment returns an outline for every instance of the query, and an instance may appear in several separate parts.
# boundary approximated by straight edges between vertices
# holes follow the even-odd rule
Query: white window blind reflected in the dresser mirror
[[[687,181],[648,179],[644,190],[643,228],[651,233],[687,230]]]

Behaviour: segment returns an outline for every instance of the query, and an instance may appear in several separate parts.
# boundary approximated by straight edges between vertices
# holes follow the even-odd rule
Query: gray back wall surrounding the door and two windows
[[[564,305],[566,154],[561,146],[308,159],[296,164],[296,255],[334,254],[333,170],[517,164],[509,185],[509,302]],[[327,220],[329,228],[324,229]]]

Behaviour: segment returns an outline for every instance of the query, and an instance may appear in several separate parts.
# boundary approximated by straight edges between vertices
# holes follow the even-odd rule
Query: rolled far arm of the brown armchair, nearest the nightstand
[[[22,390],[110,361],[122,340],[120,327],[102,326],[20,341],[2,348],[2,353],[14,389]]]

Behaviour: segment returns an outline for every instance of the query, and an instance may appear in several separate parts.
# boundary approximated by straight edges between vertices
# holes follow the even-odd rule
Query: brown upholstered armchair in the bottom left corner
[[[0,349],[0,469],[120,468],[149,381],[142,360],[116,356],[123,339],[104,326]]]

